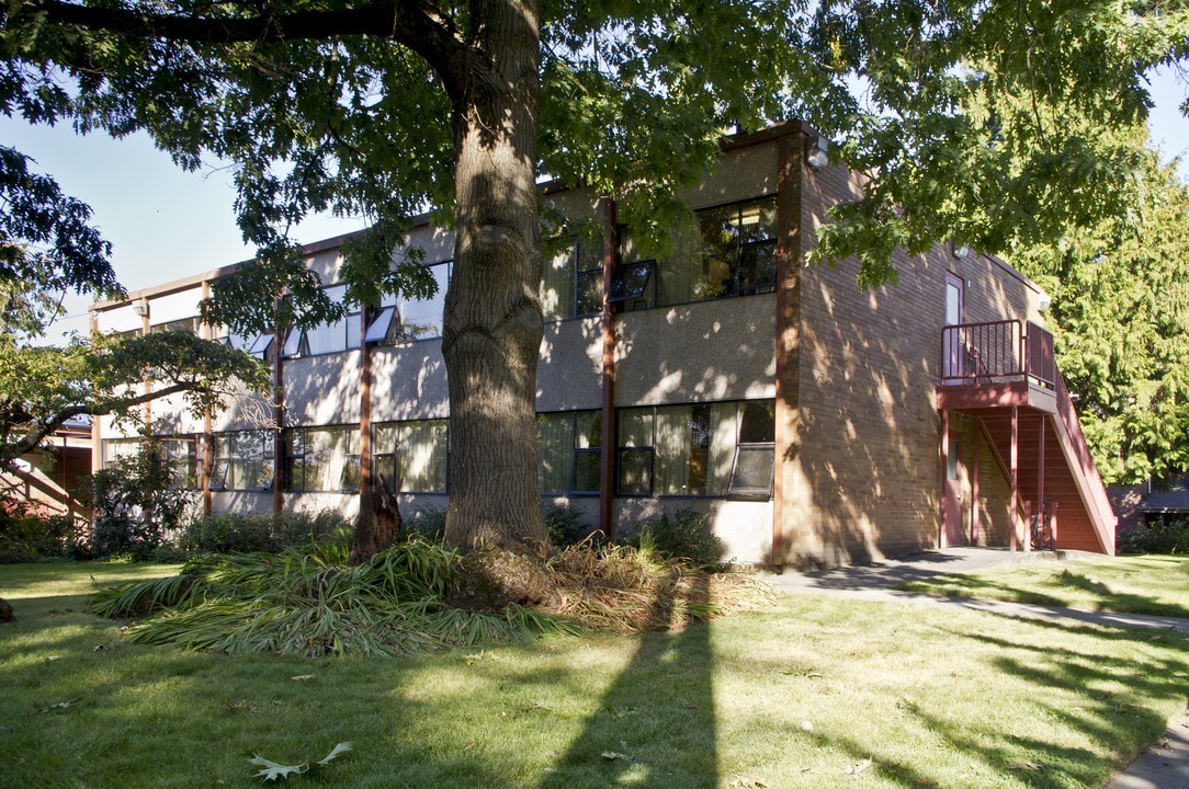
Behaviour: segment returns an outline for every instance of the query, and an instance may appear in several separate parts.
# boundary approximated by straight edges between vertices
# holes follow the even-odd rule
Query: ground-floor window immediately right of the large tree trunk
[[[542,494],[599,492],[602,430],[598,411],[536,415],[537,480]]]

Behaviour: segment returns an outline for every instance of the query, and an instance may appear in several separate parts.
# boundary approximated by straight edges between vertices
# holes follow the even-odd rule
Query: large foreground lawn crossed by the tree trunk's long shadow
[[[417,659],[121,643],[112,573],[0,567],[0,787],[1086,789],[1184,705],[1189,638],[813,594],[681,632]],[[100,570],[100,572],[96,572]]]

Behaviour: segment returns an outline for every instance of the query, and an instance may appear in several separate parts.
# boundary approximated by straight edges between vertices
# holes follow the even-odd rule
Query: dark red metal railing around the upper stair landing
[[[942,329],[942,385],[1057,381],[1052,335],[1028,321],[958,323]]]

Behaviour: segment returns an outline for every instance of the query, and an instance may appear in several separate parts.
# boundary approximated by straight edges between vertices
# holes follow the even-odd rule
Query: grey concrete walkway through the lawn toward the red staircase
[[[1006,602],[1001,600],[970,600],[900,592],[889,587],[935,575],[979,573],[982,570],[1030,561],[1074,558],[1067,551],[1009,551],[995,548],[946,548],[916,554],[904,558],[881,560],[870,564],[837,567],[806,573],[766,573],[762,577],[779,589],[799,593],[818,592],[839,594],[863,600],[933,605],[983,611],[1004,617],[1028,619],[1074,619],[1097,625],[1178,630],[1189,632],[1189,619],[1112,613],[1107,611],[1075,611],[1050,606]],[[1189,705],[1185,712],[1169,721],[1160,741],[1140,755],[1125,771],[1102,789],[1189,789]]]

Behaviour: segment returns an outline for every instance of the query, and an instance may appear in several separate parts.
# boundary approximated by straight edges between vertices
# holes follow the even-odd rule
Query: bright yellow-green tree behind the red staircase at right
[[[1111,217],[1013,258],[1052,296],[1062,374],[1107,482],[1189,468],[1189,188],[1155,154],[1139,177],[1140,233]]]

